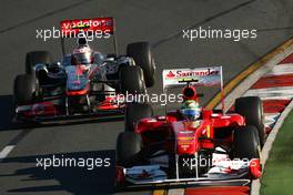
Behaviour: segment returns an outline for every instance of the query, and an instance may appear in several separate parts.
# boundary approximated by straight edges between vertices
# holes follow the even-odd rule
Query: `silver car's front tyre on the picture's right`
[[[119,78],[120,90],[123,94],[145,93],[143,72],[140,66],[121,66]]]

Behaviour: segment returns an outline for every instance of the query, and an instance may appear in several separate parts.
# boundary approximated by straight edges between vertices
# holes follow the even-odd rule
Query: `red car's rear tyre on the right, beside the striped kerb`
[[[245,117],[246,125],[257,129],[261,146],[265,142],[262,101],[259,96],[244,96],[235,101],[235,112]]]

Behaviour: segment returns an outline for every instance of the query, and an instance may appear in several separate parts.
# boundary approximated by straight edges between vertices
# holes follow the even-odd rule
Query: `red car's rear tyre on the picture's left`
[[[145,117],[153,116],[153,107],[146,103],[129,103],[125,107],[125,131],[134,132],[135,124]]]

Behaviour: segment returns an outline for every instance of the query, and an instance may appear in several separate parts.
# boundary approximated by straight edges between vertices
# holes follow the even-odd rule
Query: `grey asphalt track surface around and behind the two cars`
[[[24,55],[32,50],[61,55],[59,40],[36,39],[36,29],[59,27],[63,19],[114,17],[119,51],[128,43],[152,43],[158,65],[158,82],[151,90],[161,92],[161,70],[166,68],[223,65],[224,81],[245,69],[270,50],[292,37],[291,0],[0,0],[0,151],[16,145],[0,162],[0,194],[111,194],[113,168],[93,171],[78,167],[36,167],[40,157],[53,154],[67,157],[110,157],[114,163],[115,137],[122,122],[23,129],[11,123],[12,85],[16,74],[24,71]],[[256,29],[257,39],[234,42],[182,39],[186,27],[214,29]],[[110,47],[98,41],[101,51]],[[214,92],[206,92],[206,102]],[[160,112],[162,109],[156,110]],[[113,167],[113,166],[112,166]],[[134,192],[124,194],[150,194]]]

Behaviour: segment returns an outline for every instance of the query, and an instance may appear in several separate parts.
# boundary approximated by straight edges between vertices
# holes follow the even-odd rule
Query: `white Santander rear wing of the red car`
[[[195,69],[163,70],[163,91],[170,88],[183,86],[186,83],[195,86],[219,85],[222,94],[222,110],[224,110],[224,84],[222,66],[206,66]]]

